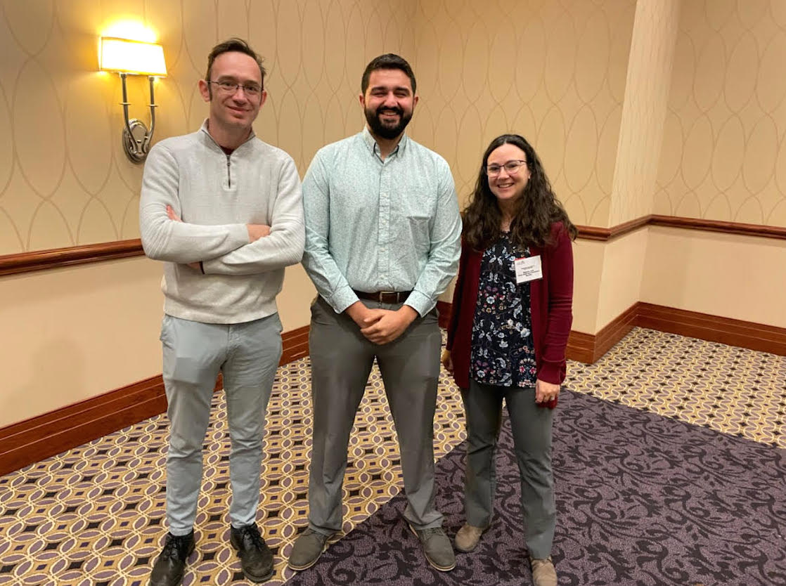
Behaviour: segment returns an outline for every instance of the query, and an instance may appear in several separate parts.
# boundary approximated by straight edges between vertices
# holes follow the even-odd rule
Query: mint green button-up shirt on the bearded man
[[[428,313],[456,274],[461,216],[445,159],[402,136],[384,160],[366,128],[321,148],[303,179],[303,266],[336,313],[355,291],[412,291]]]

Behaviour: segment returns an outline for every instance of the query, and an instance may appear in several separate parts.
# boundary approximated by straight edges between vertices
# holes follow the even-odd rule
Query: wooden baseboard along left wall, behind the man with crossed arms
[[[308,326],[281,335],[279,364],[308,355]],[[223,387],[221,375],[215,389]],[[167,410],[161,376],[90,397],[0,429],[0,475],[101,438]]]

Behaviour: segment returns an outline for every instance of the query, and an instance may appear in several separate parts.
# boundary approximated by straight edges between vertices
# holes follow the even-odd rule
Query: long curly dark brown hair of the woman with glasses
[[[499,240],[502,212],[497,204],[497,197],[489,188],[486,165],[491,152],[501,145],[520,148],[527,156],[527,168],[530,170],[527,187],[516,201],[510,223],[510,240],[513,246],[523,250],[527,246],[545,247],[553,244],[551,226],[554,222],[562,222],[571,239],[575,239],[578,230],[567,217],[560,200],[556,199],[551,182],[546,177],[540,158],[532,145],[518,134],[502,134],[494,138],[483,153],[475,191],[462,214],[465,242],[476,251],[483,251]]]

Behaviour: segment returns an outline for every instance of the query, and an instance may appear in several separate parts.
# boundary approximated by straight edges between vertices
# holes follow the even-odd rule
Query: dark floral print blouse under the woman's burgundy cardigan
[[[469,372],[478,383],[534,386],[537,378],[530,284],[516,284],[515,259],[509,233],[483,252]]]

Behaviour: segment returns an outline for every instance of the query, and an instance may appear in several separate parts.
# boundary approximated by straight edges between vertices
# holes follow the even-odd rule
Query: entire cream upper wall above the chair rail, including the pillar
[[[141,167],[119,145],[119,80],[96,71],[97,36],[123,19],[147,25],[165,49],[156,140],[199,125],[208,50],[240,35],[270,71],[256,130],[303,173],[317,148],[362,127],[362,68],[396,51],[419,82],[410,133],[448,159],[461,200],[488,141],[512,130],[533,142],[578,224],[652,211],[786,225],[783,0],[638,9],[635,0],[2,0],[0,9],[0,125],[13,137],[0,141],[0,255],[138,236]],[[131,115],[143,120],[145,81],[129,83]]]

